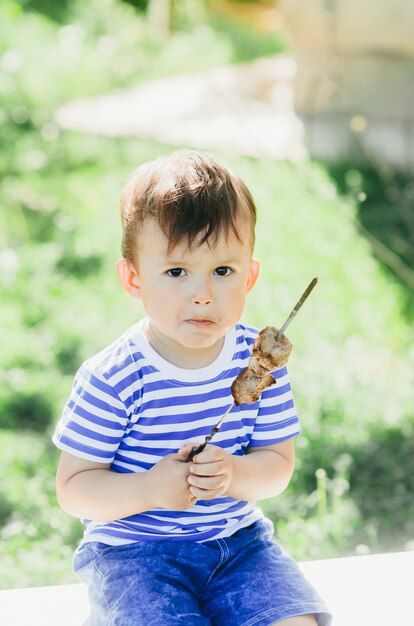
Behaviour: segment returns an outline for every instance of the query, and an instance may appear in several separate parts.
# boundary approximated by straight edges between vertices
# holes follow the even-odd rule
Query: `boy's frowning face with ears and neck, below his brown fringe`
[[[202,353],[215,358],[225,333],[240,319],[259,262],[251,259],[248,225],[238,226],[244,243],[230,233],[213,248],[204,243],[188,249],[183,242],[168,254],[167,238],[147,220],[138,236],[137,269],[125,259],[119,262],[120,280],[142,300],[150,320],[148,338],[165,358],[176,363],[186,357],[194,363]]]

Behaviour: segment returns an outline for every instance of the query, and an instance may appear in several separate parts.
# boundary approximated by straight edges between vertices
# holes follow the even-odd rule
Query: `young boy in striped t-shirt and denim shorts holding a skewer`
[[[74,571],[90,626],[330,624],[255,501],[281,493],[299,426],[286,368],[254,404],[230,386],[257,330],[256,209],[212,157],[141,166],[121,197],[118,276],[147,317],[87,360],[57,426],[57,496],[83,518]]]

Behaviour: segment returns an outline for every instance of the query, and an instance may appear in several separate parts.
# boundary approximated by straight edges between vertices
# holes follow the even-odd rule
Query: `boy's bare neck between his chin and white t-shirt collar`
[[[153,327],[150,320],[144,326],[145,336],[150,346],[163,359],[182,369],[201,369],[213,363],[220,354],[224,337],[208,348],[191,349],[182,346],[173,339],[162,336]]]

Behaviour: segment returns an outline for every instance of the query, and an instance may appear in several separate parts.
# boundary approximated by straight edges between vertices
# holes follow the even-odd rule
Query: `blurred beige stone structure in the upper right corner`
[[[414,171],[414,1],[279,0],[295,111],[327,161]]]

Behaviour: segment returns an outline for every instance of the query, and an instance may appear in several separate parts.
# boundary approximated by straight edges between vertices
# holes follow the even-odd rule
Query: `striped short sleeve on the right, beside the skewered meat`
[[[256,424],[249,445],[281,443],[300,434],[292,389],[286,367],[273,372],[276,383],[265,389],[260,399]]]

